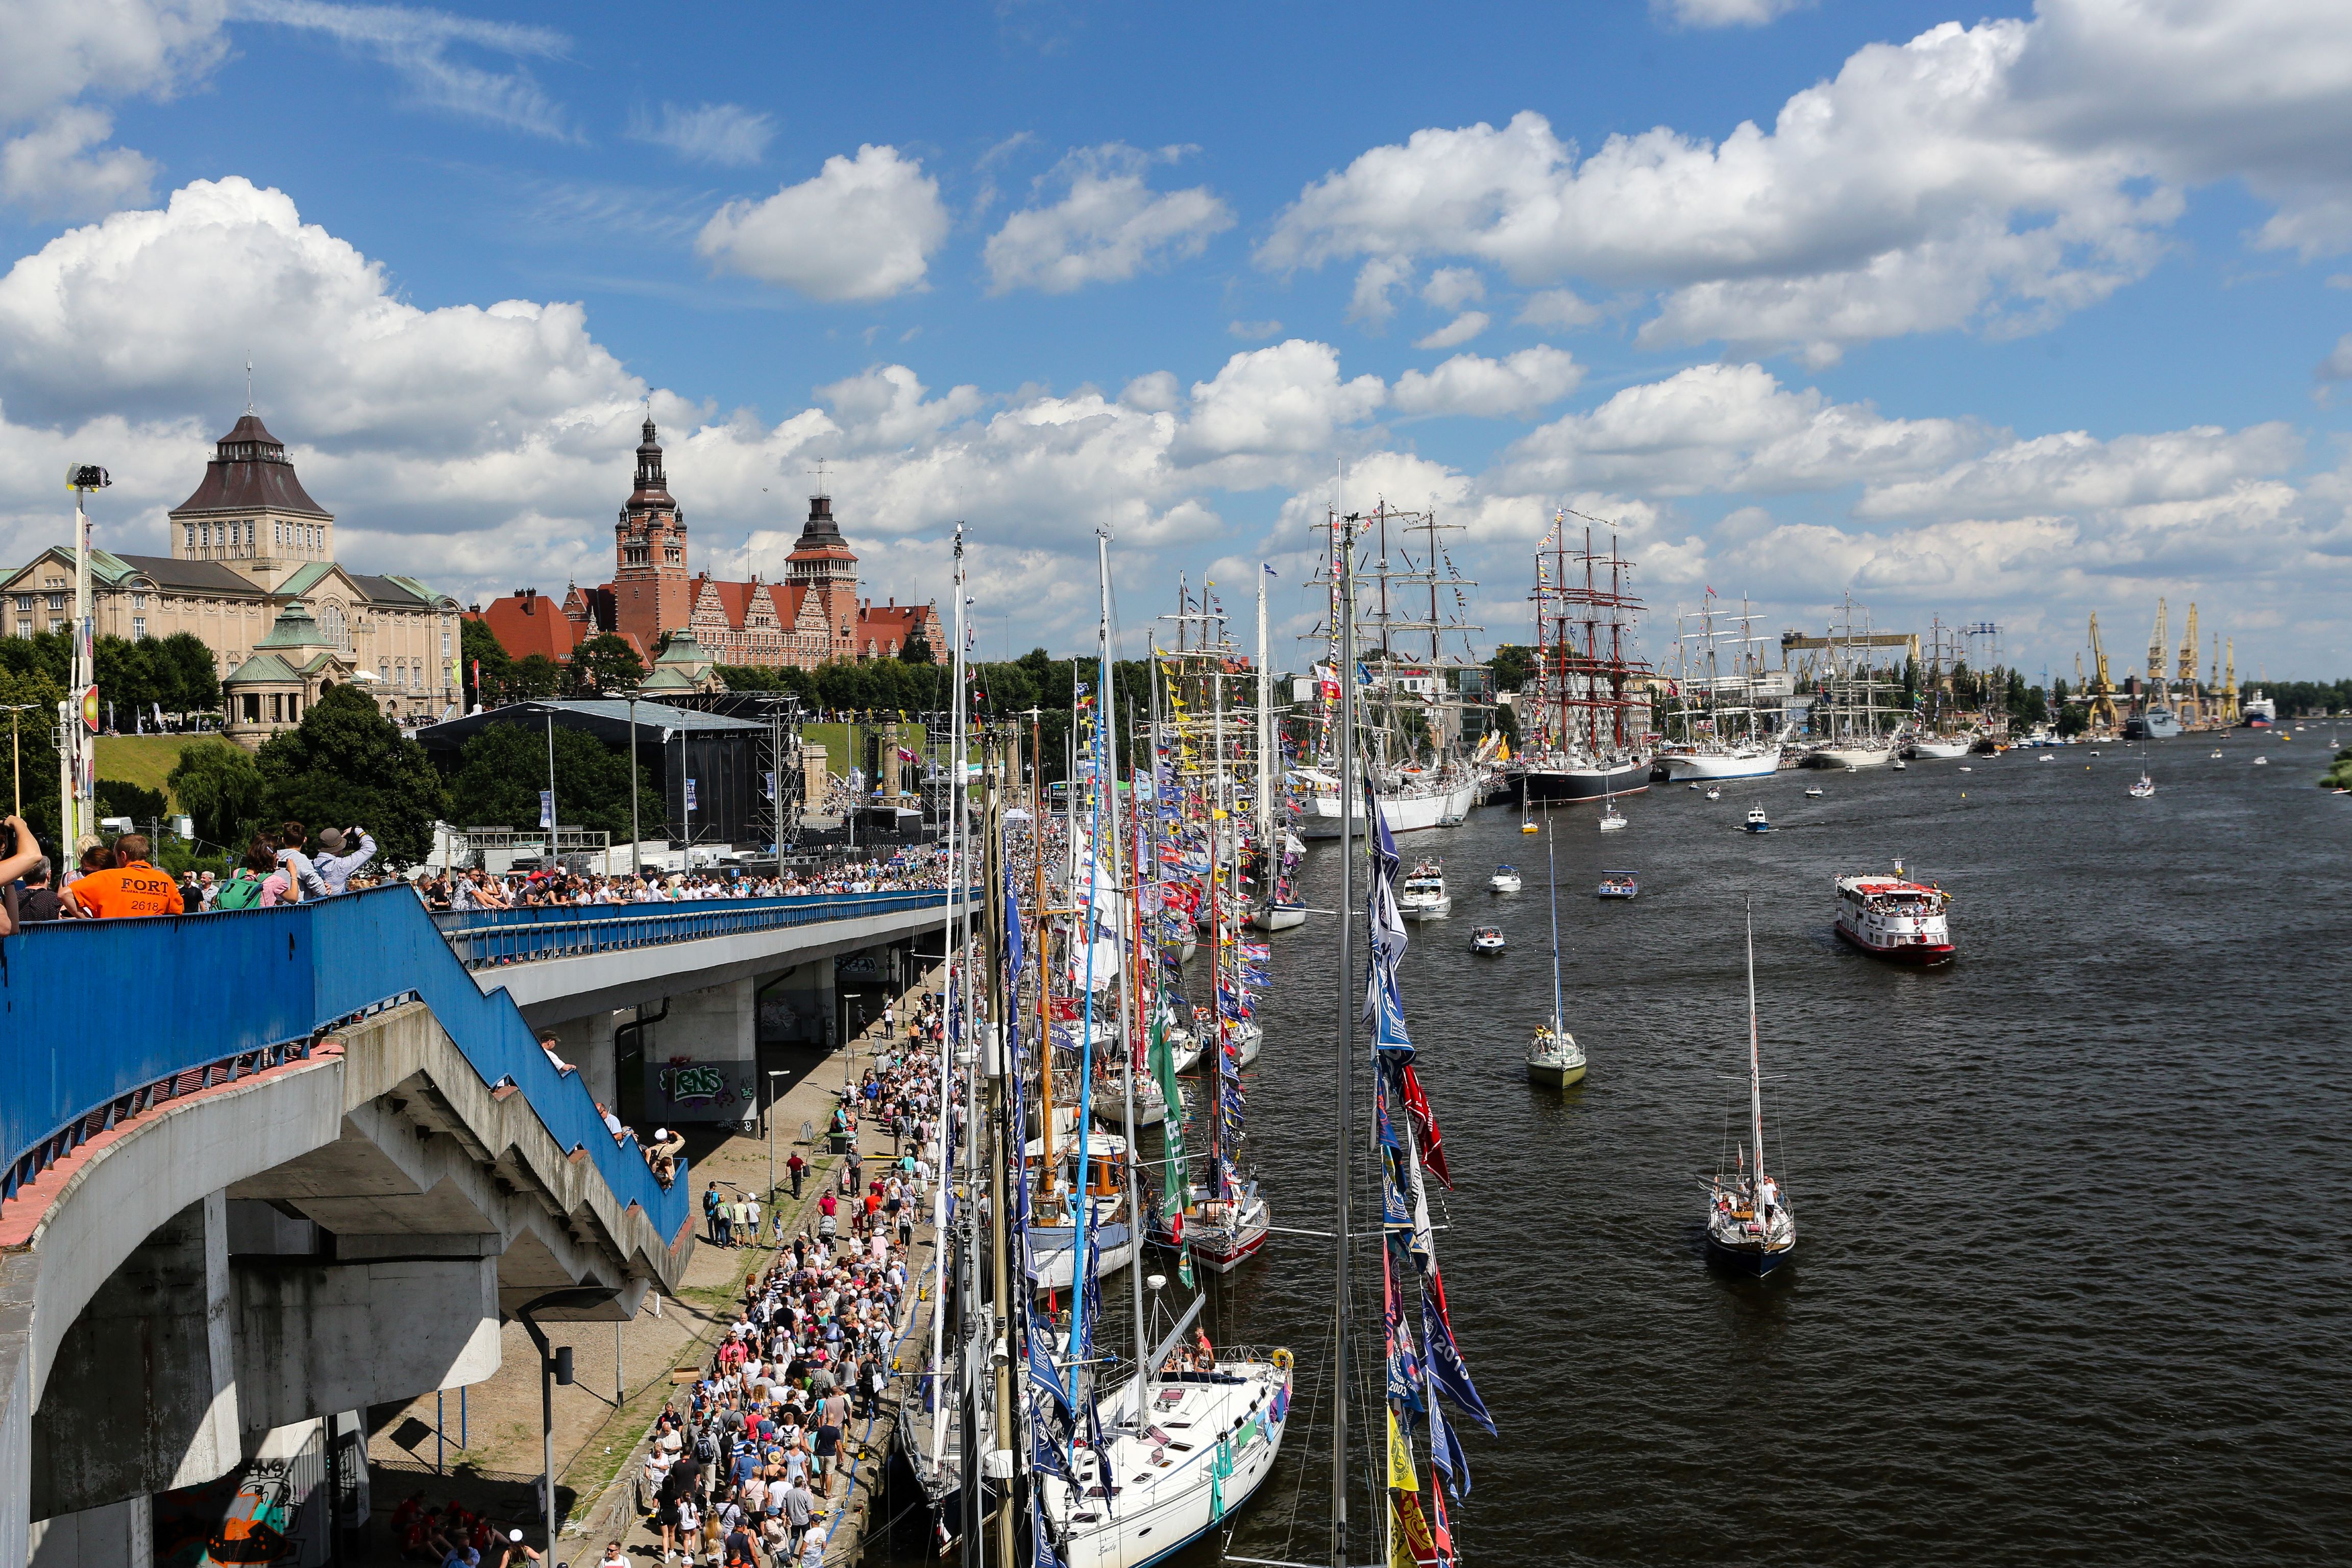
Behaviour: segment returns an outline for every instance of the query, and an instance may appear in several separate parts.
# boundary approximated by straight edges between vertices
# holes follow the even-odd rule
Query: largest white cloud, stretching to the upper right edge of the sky
[[[2347,141],[2338,5],[2042,0],[1856,49],[1769,127],[1719,139],[1653,127],[1585,153],[1531,110],[1418,129],[1305,186],[1258,261],[1458,256],[1522,284],[1651,292],[1646,346],[1828,360],[2096,303],[2164,256],[2185,190],[2220,179],[2272,205],[2256,244],[2352,247]]]

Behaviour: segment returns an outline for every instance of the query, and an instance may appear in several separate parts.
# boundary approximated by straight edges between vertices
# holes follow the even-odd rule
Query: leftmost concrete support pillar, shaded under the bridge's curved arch
[[[228,1474],[242,1458],[228,1199],[188,1204],[66,1331],[33,1413],[33,1519]]]

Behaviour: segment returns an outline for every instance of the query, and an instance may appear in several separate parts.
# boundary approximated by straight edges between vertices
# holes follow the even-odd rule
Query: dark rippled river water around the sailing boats
[[[1519,1056],[1550,1013],[1545,837],[1512,809],[1406,837],[1454,891],[1451,919],[1414,929],[1404,999],[1458,1182],[1454,1326],[1501,1422],[1465,1434],[1463,1559],[2352,1556],[2331,1197],[2352,1185],[2352,799],[2312,788],[2328,733],[2239,733],[2218,762],[2206,736],[2157,743],[2147,802],[2124,792],[2126,748],[2065,748],[1780,773],[1719,802],[1653,788],[1606,837],[1562,809],[1562,978],[1592,1060],[1569,1091],[1529,1086]],[[1750,804],[1776,832],[1740,832]],[[1835,940],[1832,877],[1896,856],[1955,893],[1957,964]],[[1503,860],[1524,893],[1486,891]],[[1639,900],[1602,905],[1604,867],[1637,870]],[[1329,910],[1336,879],[1336,846],[1310,851],[1305,900]],[[1799,1220],[1764,1281],[1698,1246],[1698,1180],[1745,1114],[1743,903]],[[1486,922],[1508,954],[1470,954]],[[1331,926],[1272,938],[1249,1074],[1275,1220],[1324,1232]],[[1329,1244],[1275,1237],[1214,1300],[1218,1338],[1301,1359],[1282,1465],[1225,1549],[1327,1561]],[[1376,1559],[1359,1528],[1350,1561]]]

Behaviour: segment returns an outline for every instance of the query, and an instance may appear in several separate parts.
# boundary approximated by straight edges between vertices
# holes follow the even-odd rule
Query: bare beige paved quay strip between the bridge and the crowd
[[[913,990],[941,990],[934,971]],[[901,1013],[903,1013],[901,1004]],[[858,1081],[875,1063],[882,1046],[882,1025],[870,1025],[847,1046],[849,1081]],[[771,1107],[774,1168],[779,1194],[786,1208],[788,1232],[802,1222],[814,1225],[816,1194],[837,1171],[837,1159],[821,1152],[823,1128],[840,1103],[842,1065],[826,1058],[814,1072],[793,1084]],[[814,1126],[816,1145],[800,1138],[802,1124]],[[769,1138],[739,1133],[731,1128],[687,1128],[689,1180],[694,1182],[694,1213],[701,1218],[701,1194],[717,1180],[729,1199],[741,1194],[769,1197]],[[863,1131],[861,1147],[868,1159],[889,1154],[887,1133],[875,1140]],[[790,1178],[783,1161],[800,1152],[809,1161],[802,1199],[793,1201]],[[762,1234],[774,1234],[769,1206],[762,1206]],[[774,1258],[771,1246],[724,1248],[708,1239],[699,1241],[694,1258],[675,1298],[656,1300],[647,1295],[647,1307],[626,1324],[550,1324],[555,1345],[572,1345],[572,1387],[555,1389],[555,1472],[557,1486],[579,1497],[567,1509],[564,1535],[579,1535],[588,1552],[607,1540],[623,1540],[637,1559],[659,1559],[659,1537],[647,1533],[635,1512],[635,1476],[644,1458],[644,1436],[661,1406],[680,1389],[673,1378],[694,1382],[710,1363],[713,1347],[727,1324],[743,1305],[748,1281],[757,1279]],[[917,1302],[929,1295],[931,1227],[920,1225],[915,1251],[908,1258],[908,1276],[920,1284]],[[659,1307],[659,1314],[656,1314]],[[922,1349],[908,1335],[903,1354],[910,1368],[920,1368]],[[372,1422],[369,1460],[400,1462],[400,1472],[379,1469],[374,1476],[374,1507],[379,1516],[414,1490],[423,1490],[428,1502],[459,1495],[433,1474],[414,1474],[414,1465],[433,1465],[459,1472],[461,1467],[499,1479],[539,1476],[539,1352],[532,1347],[522,1324],[506,1324],[501,1333],[503,1361],[499,1371],[463,1392],[423,1394],[400,1410],[376,1408]],[[896,1371],[896,1368],[894,1368]],[[435,1429],[440,1448],[435,1453]],[[861,1432],[861,1436],[866,1436]],[[868,1453],[858,1460],[858,1488],[851,1505],[863,1514],[866,1493],[880,1465],[889,1460],[889,1432],[877,1427],[868,1441]],[[842,1505],[842,1483],[835,1481],[833,1505]],[[833,1556],[856,1537],[856,1528],[844,1523],[837,1533]],[[536,1540],[536,1535],[534,1535]]]

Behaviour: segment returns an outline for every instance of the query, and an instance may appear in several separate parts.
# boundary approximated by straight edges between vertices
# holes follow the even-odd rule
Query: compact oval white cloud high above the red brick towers
[[[924,287],[946,237],[948,207],[922,160],[868,143],[762,202],[727,202],[694,249],[729,273],[835,303]]]

